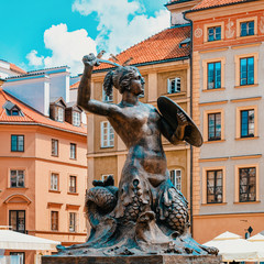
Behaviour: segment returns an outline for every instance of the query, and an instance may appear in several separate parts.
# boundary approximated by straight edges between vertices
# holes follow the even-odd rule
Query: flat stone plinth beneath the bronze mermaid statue
[[[215,255],[43,256],[42,264],[220,264]]]

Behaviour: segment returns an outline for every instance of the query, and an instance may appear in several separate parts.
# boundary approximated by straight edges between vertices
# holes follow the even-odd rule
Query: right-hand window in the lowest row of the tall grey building
[[[240,193],[239,201],[256,200],[256,168],[245,167],[239,169]]]

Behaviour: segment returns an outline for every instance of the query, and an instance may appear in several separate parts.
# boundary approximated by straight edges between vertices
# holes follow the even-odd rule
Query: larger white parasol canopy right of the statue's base
[[[219,249],[219,254],[222,255],[224,262],[264,261],[264,251],[262,252],[254,243],[241,239],[241,235],[234,233],[224,232],[204,245]]]

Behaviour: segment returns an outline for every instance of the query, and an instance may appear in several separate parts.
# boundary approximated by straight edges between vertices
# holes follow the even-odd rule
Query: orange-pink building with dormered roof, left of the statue
[[[87,237],[87,128],[65,100],[62,72],[9,77],[0,88],[0,226],[72,245]],[[55,87],[68,91],[52,97]],[[6,251],[14,253],[34,263],[36,252]]]

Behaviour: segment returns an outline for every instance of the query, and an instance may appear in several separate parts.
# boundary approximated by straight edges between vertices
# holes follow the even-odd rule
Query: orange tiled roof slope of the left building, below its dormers
[[[13,105],[18,106],[21,111],[23,112],[23,117],[21,116],[8,116],[4,109],[4,103],[7,101],[12,102]],[[57,122],[54,121],[42,113],[37,112],[33,108],[26,106],[22,101],[18,100],[16,98],[12,97],[8,92],[6,92],[2,88],[0,88],[0,123],[31,123],[31,124],[41,124],[51,127],[53,129],[59,129],[67,132],[74,132],[86,135],[87,129],[85,127],[75,127],[67,122]]]

